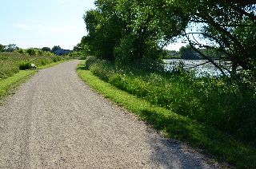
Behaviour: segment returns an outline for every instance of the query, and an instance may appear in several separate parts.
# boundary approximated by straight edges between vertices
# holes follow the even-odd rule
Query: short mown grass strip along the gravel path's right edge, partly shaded
[[[103,96],[130,112],[134,112],[146,123],[162,130],[167,137],[189,143],[191,147],[210,155],[222,164],[229,163],[235,168],[256,168],[254,147],[241,143],[232,136],[196,120],[179,116],[166,108],[160,108],[138,99],[138,97],[100,80],[85,68],[85,61],[78,65],[78,75]],[[230,166],[223,165],[223,167]]]

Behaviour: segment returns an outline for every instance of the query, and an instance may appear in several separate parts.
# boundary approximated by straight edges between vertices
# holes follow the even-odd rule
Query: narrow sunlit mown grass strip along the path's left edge
[[[58,61],[49,65],[40,66],[38,69],[46,69],[58,65],[64,61]],[[38,70],[20,70],[14,76],[0,80],[0,105],[4,103],[7,96],[13,94],[22,83],[30,79]]]

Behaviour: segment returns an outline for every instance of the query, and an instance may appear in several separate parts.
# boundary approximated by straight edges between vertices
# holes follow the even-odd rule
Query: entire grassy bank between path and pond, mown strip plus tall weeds
[[[221,78],[116,69],[106,62],[91,66],[90,71],[82,62],[78,74],[166,136],[214,155],[218,161],[238,168],[256,168],[256,103],[254,92],[246,90],[244,84]]]

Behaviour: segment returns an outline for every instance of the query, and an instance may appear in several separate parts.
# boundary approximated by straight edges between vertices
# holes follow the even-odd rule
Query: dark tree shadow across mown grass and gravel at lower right
[[[206,155],[219,161],[230,158],[232,159],[230,163],[245,164],[249,163],[250,158],[241,159],[238,155],[255,154],[251,147],[238,142],[232,136],[206,124],[200,124],[196,120],[190,120],[186,116],[178,116],[174,113],[164,114],[151,108],[141,110],[140,116],[146,120],[146,123],[153,124],[153,127],[158,130],[164,130],[166,136],[173,138],[161,137],[158,139],[161,142],[160,145],[156,144],[157,140],[149,140],[156,152],[151,160],[159,163],[163,168],[216,168],[214,164],[210,167],[210,164],[200,160],[205,159]],[[206,155],[200,155],[180,141],[189,143]],[[190,151],[194,152],[190,153]]]

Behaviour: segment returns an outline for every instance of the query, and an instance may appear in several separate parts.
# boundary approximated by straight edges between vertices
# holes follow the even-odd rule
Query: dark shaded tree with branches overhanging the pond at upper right
[[[151,3],[150,3],[151,2]],[[225,70],[236,73],[238,66],[254,71],[256,64],[256,10],[253,1],[237,0],[158,0],[143,1],[142,6],[154,11],[158,17],[159,29],[167,37],[172,37],[176,26],[175,18],[181,22],[182,33],[191,48],[210,61],[225,74]],[[166,19],[167,18],[167,19]],[[169,22],[168,22],[169,21]],[[172,22],[174,21],[174,22]],[[166,23],[166,25],[162,24]],[[204,40],[204,41],[202,41]],[[202,53],[201,48],[215,50],[218,60],[231,61],[232,71],[220,62]]]

